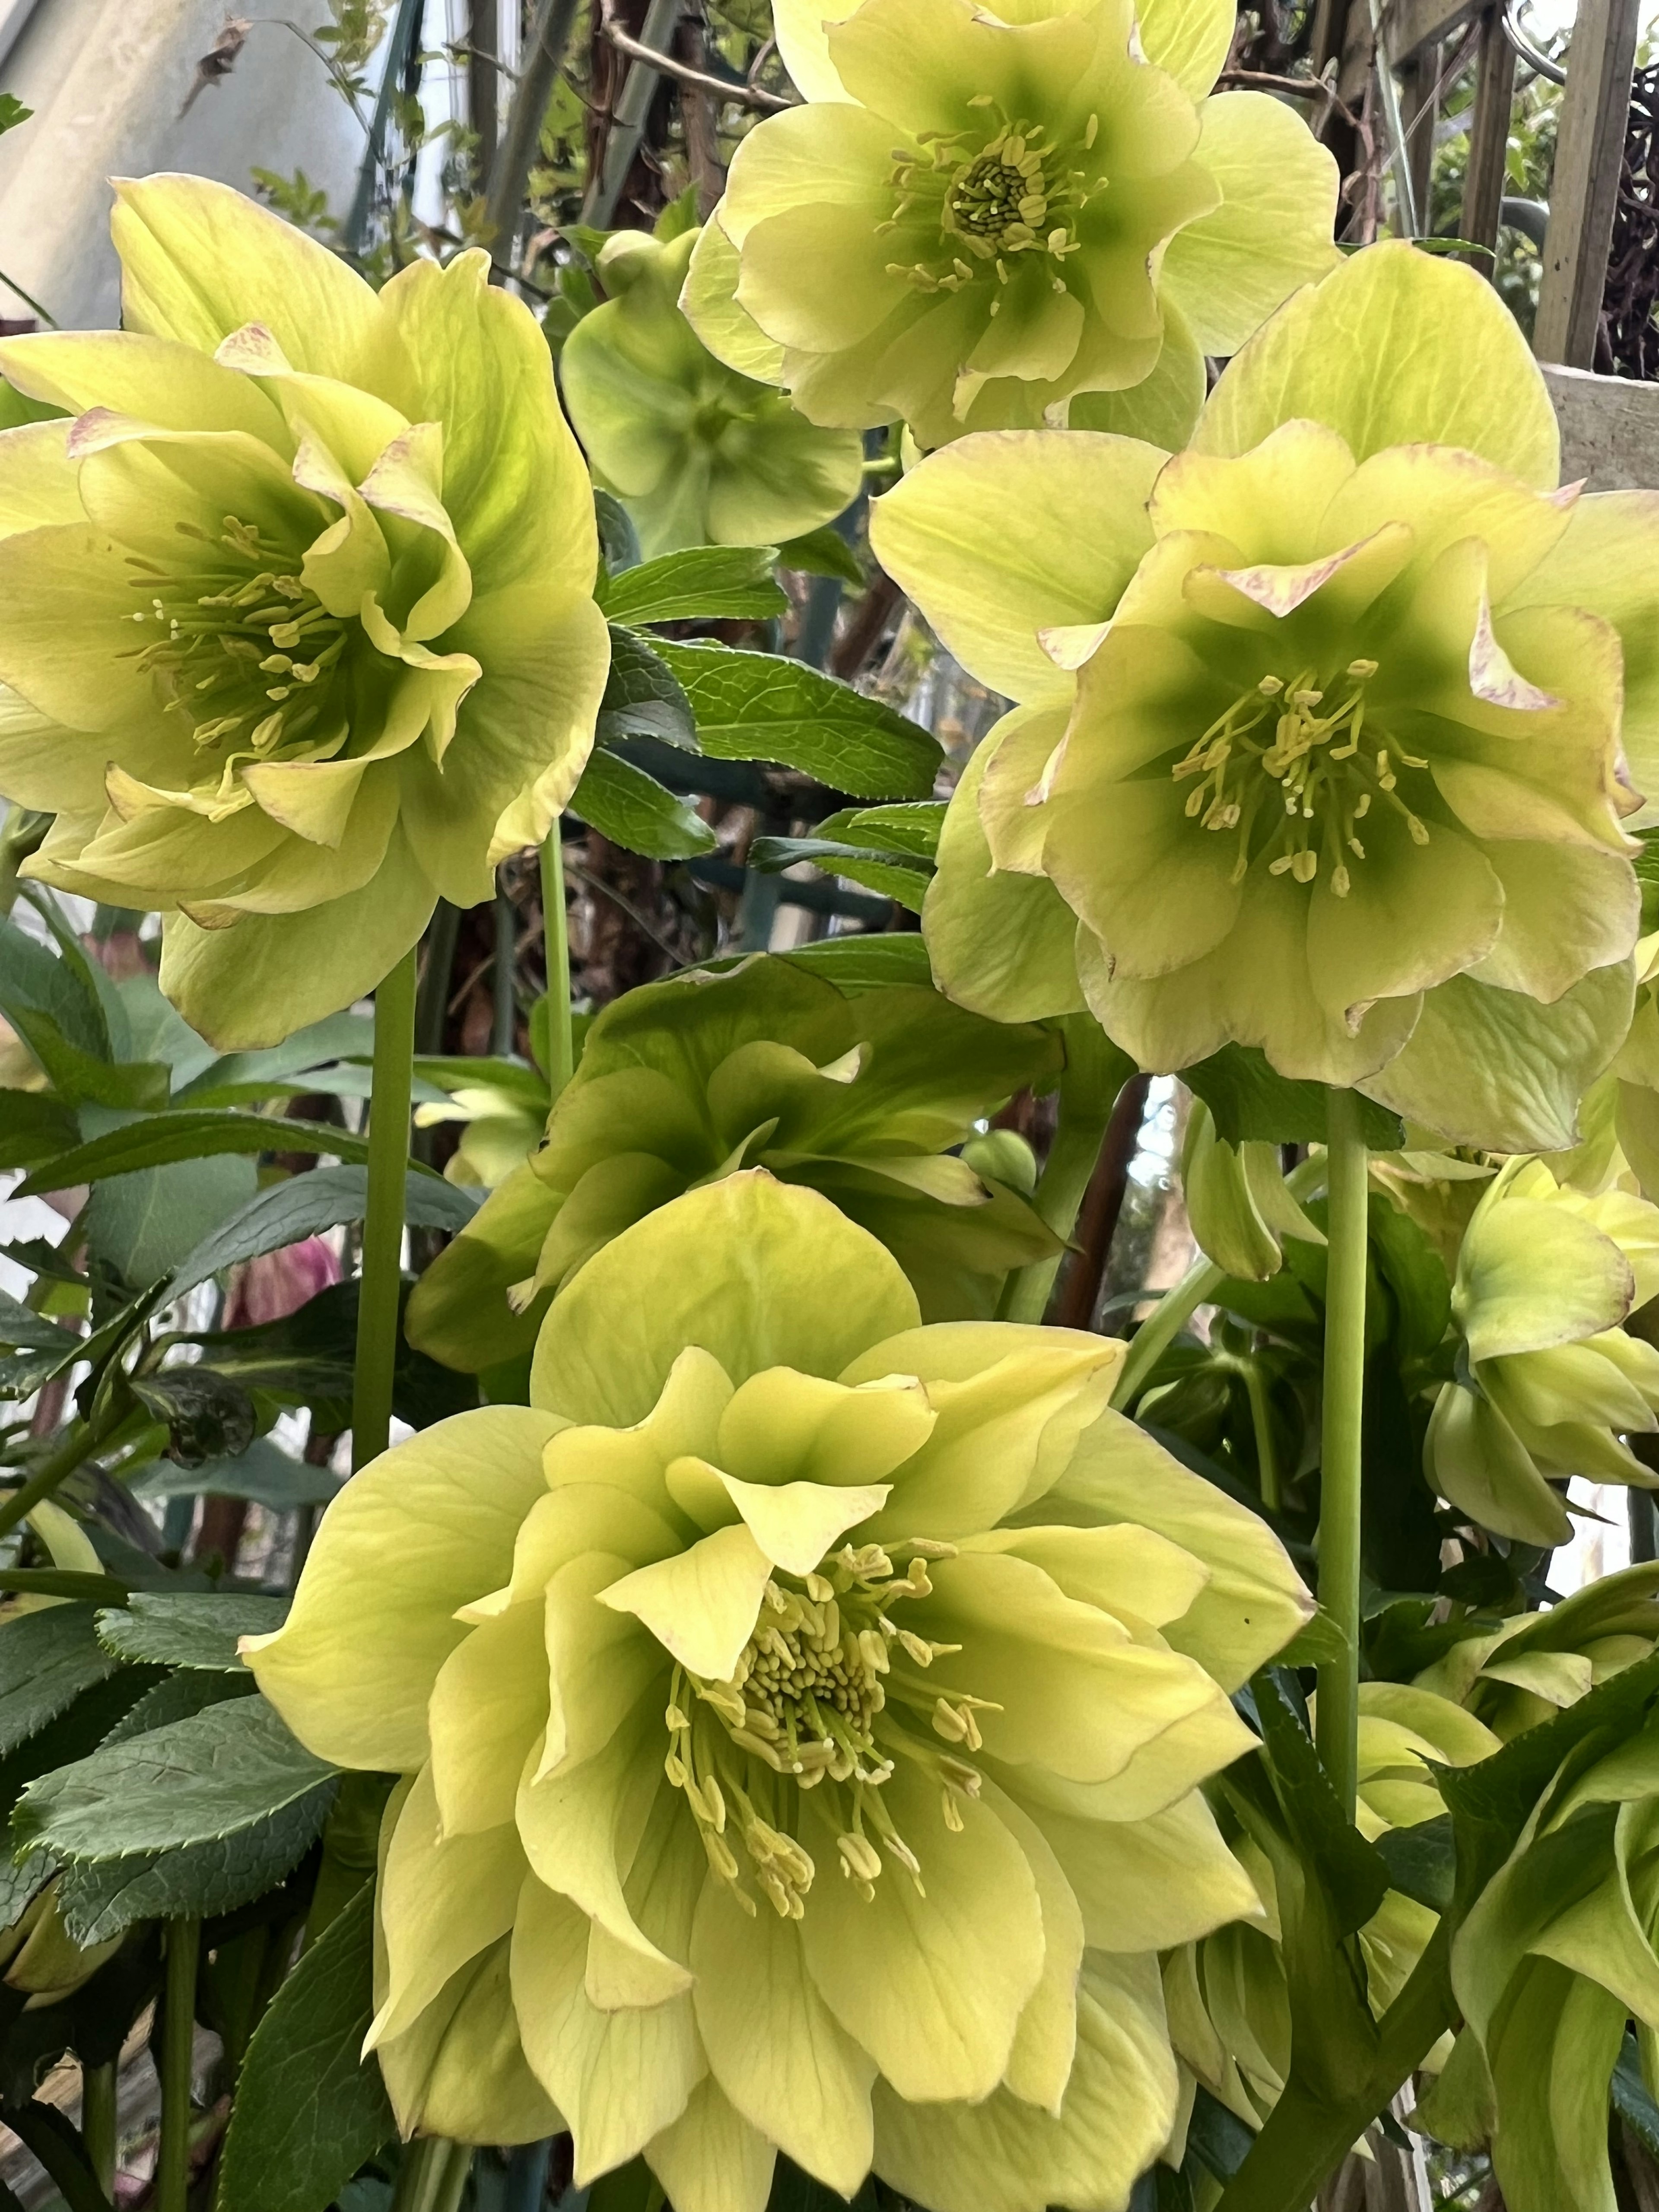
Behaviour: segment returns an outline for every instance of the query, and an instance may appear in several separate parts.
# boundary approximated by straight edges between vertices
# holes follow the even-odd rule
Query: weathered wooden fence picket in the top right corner
[[[1540,361],[1575,369],[1595,367],[1595,330],[1630,117],[1637,20],[1639,0],[1582,0],[1566,55],[1533,352]]]

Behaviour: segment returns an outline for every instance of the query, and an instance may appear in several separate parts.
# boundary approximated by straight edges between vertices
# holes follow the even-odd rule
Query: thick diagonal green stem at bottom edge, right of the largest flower
[[[1323,2183],[1422,2064],[1455,2017],[1449,1982],[1451,1929],[1442,1916],[1411,1980],[1378,2022],[1376,2055],[1358,2086],[1338,2101],[1312,2097],[1292,2079],[1250,2146],[1217,2212],[1307,2212]]]

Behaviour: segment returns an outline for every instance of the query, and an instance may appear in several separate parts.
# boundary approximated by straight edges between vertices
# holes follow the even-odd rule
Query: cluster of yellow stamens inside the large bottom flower
[[[951,1747],[980,1750],[975,1710],[984,1699],[936,1697],[916,1672],[958,1652],[900,1628],[891,1608],[931,1595],[927,1559],[953,1546],[914,1537],[900,1573],[880,1544],[845,1544],[818,1573],[776,1573],[730,1681],[675,1668],[664,1772],[684,1792],[708,1863],[745,1911],[741,1843],[754,1887],[785,1920],[801,1920],[816,1865],[790,1834],[794,1792],[827,1790],[838,1807],[843,1876],[869,1900],[883,1851],[922,1891],[920,1860],[898,1834],[880,1787],[896,1759],[920,1756],[940,1787],[945,1825],[962,1827],[960,1798],[978,1796],[980,1772],[956,1750],[914,1741],[891,1714],[927,1719]]]

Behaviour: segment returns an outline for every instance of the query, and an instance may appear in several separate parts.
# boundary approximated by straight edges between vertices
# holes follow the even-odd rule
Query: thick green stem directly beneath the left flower
[[[392,1369],[398,1356],[403,1188],[409,1172],[416,956],[398,960],[374,993],[374,1093],[369,1099],[369,1210],[352,1374],[352,1467],[392,1440]]]

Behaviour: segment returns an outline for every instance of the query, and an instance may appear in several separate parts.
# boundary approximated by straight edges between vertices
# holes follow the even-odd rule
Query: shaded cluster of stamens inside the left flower
[[[250,522],[226,515],[217,540],[188,522],[177,529],[215,549],[219,575],[181,580],[131,557],[148,593],[133,622],[153,633],[135,648],[137,664],[161,672],[168,706],[204,752],[228,748],[226,774],[232,757],[283,757],[319,723],[345,626]],[[204,582],[217,588],[201,591]]]

